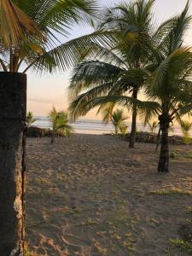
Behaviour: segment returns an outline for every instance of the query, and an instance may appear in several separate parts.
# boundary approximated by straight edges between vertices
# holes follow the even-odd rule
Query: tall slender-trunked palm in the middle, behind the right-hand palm
[[[108,47],[90,42],[90,51],[74,68],[69,86],[69,110],[74,118],[87,113],[91,108],[87,102],[96,96],[131,94],[133,101],[127,105],[132,112],[130,148],[134,148],[137,131],[138,109],[134,100],[148,76],[144,68],[148,65],[147,46],[153,36],[153,3],[139,0],[104,11],[97,29],[111,33],[113,44]]]

